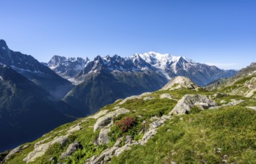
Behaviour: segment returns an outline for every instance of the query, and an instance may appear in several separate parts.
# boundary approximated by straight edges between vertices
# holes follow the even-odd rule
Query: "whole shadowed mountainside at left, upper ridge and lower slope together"
[[[0,151],[31,141],[81,113],[63,101],[72,84],[0,40]]]

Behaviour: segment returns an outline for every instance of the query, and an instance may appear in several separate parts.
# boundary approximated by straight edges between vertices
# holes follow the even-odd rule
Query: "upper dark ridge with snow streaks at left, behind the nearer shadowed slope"
[[[72,89],[72,83],[61,78],[31,55],[11,51],[4,40],[0,40],[0,63],[12,67],[19,74],[46,89],[55,100],[60,100]]]

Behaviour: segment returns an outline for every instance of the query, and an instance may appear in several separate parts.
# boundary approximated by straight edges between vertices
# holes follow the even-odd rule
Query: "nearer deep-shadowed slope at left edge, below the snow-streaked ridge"
[[[72,113],[66,105],[51,101],[44,89],[1,64],[0,95],[1,151],[73,120],[61,113]]]

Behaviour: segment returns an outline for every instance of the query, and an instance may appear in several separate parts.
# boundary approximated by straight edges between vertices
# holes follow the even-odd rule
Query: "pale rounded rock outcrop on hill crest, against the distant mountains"
[[[199,86],[193,83],[190,78],[184,76],[177,76],[163,86],[162,90],[174,90],[174,89],[199,89]]]

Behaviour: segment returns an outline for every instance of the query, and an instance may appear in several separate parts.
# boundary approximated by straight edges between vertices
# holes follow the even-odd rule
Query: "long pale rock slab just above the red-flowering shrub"
[[[125,108],[119,108],[118,110],[114,110],[113,112],[107,113],[106,115],[100,117],[94,124],[94,132],[98,130],[100,127],[107,126],[107,124],[109,124],[115,116],[119,116],[120,114],[128,112],[130,112],[130,110],[127,110]]]

